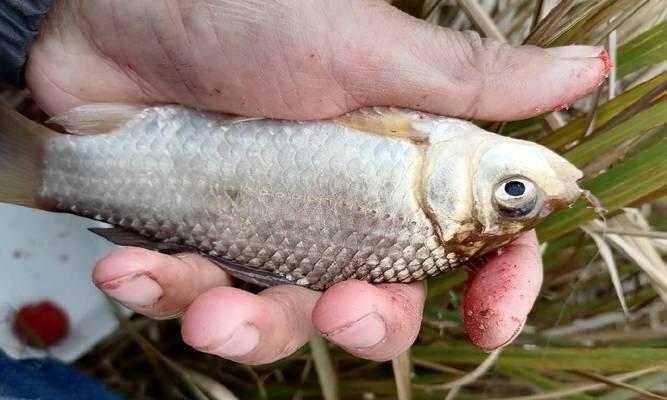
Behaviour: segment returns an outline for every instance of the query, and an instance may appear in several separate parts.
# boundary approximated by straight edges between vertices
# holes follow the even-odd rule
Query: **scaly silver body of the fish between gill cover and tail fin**
[[[409,141],[331,122],[221,126],[168,107],[113,135],[50,140],[40,195],[57,208],[314,289],[408,281],[456,264],[426,246],[435,232],[412,198],[418,149]],[[150,185],[128,173],[137,163]]]

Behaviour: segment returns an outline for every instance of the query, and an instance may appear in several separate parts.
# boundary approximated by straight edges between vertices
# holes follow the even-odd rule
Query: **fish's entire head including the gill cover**
[[[473,124],[440,137],[427,153],[423,203],[441,241],[460,254],[502,246],[581,194],[583,173],[537,143]]]

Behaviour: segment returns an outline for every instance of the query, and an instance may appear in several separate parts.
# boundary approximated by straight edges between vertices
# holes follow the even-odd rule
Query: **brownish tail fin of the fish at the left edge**
[[[0,203],[40,208],[39,174],[53,135],[57,133],[0,105]]]

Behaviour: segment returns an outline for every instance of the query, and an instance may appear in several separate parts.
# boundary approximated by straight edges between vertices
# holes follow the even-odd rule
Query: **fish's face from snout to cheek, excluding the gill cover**
[[[513,235],[533,228],[581,194],[583,173],[536,143],[494,138],[477,149],[472,166],[474,215],[486,235]]]

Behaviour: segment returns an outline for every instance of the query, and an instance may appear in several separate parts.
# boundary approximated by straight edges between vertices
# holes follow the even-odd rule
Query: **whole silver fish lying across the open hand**
[[[582,173],[538,144],[403,109],[306,122],[92,104],[52,122],[70,134],[0,113],[0,201],[260,285],[425,279],[581,193]]]

